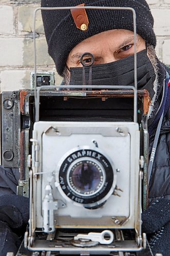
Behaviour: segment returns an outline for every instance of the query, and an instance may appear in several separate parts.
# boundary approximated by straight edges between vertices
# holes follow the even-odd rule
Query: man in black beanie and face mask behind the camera
[[[150,155],[152,152],[149,166],[150,207],[142,215],[143,231],[149,234],[154,253],[170,255],[170,83],[167,68],[155,53],[153,16],[145,0],[41,0],[42,7],[82,4],[131,7],[136,11],[138,89],[147,89],[151,97],[148,115]],[[65,84],[83,83],[80,58],[85,52],[94,56],[93,85],[134,84],[134,35],[130,11],[43,10],[42,18],[48,53]],[[90,57],[84,58],[84,62],[90,61]],[[155,151],[156,154],[153,154]]]

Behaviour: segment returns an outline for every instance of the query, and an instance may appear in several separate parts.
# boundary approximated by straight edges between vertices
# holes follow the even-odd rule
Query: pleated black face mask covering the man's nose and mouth
[[[86,84],[89,81],[90,67],[84,67]],[[134,55],[111,63],[93,65],[90,85],[134,86]],[[155,92],[153,83],[156,75],[147,51],[137,53],[137,87],[150,92],[151,99]],[[83,84],[83,68],[70,68],[70,85]],[[107,89],[107,87],[106,87]]]

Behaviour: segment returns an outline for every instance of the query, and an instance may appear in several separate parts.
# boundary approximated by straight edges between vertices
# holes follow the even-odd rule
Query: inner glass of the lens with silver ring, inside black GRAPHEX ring
[[[68,172],[68,184],[77,194],[88,196],[98,193],[105,182],[104,169],[95,161],[78,161]]]

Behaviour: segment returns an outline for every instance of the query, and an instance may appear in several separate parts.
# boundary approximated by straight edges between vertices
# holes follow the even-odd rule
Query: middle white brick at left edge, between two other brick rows
[[[21,66],[22,48],[22,38],[0,38],[0,66]]]

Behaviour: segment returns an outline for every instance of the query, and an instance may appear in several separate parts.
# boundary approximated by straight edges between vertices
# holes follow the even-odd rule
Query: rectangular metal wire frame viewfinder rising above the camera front
[[[46,11],[57,11],[57,10],[70,10],[70,9],[90,9],[90,10],[127,10],[131,11],[133,14],[133,32],[134,32],[134,84],[135,86],[107,86],[107,89],[132,89],[134,91],[134,122],[137,122],[137,49],[136,49],[136,41],[137,41],[137,36],[136,36],[136,12],[133,8],[131,7],[102,7],[102,6],[80,6],[80,7],[38,7],[34,11],[34,17],[33,17],[33,40],[34,40],[34,74],[36,78],[36,73],[37,73],[37,53],[36,53],[36,13],[39,10],[46,10]],[[66,87],[64,87],[66,88]],[[71,88],[71,86],[68,86],[68,88]],[[74,86],[72,88],[88,88],[88,86]],[[96,88],[96,86],[90,86],[90,88]],[[97,86],[99,89],[105,89],[106,87],[104,86]],[[50,89],[50,88],[49,88]],[[38,90],[38,95],[37,95],[37,82],[35,79],[35,87],[34,87],[34,96],[35,96],[35,121],[39,121],[39,91],[41,88]]]

